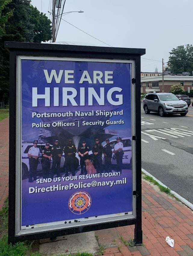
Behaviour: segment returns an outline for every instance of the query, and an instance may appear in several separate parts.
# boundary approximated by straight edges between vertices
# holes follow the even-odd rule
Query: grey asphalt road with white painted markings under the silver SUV
[[[193,107],[166,117],[141,109],[142,168],[193,203]]]

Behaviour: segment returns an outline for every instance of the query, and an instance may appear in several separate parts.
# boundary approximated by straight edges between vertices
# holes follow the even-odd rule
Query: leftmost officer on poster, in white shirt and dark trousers
[[[36,170],[38,167],[38,158],[39,158],[39,148],[37,147],[38,141],[33,142],[33,147],[30,147],[27,156],[29,157],[29,180],[28,182],[33,182],[33,180],[36,180]],[[33,179],[32,179],[33,178]]]

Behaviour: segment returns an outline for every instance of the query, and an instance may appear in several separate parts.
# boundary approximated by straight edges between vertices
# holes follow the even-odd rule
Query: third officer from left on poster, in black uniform
[[[51,167],[51,173],[50,177],[53,179],[54,173],[56,171],[57,177],[60,177],[60,162],[61,162],[61,156],[62,156],[62,148],[59,145],[59,141],[55,140],[54,145],[51,148],[51,155],[52,155],[52,167]]]

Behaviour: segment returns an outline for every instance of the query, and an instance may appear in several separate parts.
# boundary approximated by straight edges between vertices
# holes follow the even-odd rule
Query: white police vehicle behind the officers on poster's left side
[[[50,145],[52,146],[52,145]],[[27,156],[28,151],[30,149],[30,147],[33,147],[33,142],[32,143],[22,143],[22,148],[21,148],[21,158],[22,158],[22,180],[27,179],[28,178],[28,173],[29,173],[29,157]],[[39,148],[39,152],[40,152],[40,157],[39,157],[39,162],[38,162],[38,167],[37,167],[37,173],[42,171],[42,164],[41,164],[41,160],[42,160],[42,150],[45,148],[45,143],[38,143],[37,147]],[[60,167],[64,166],[64,154],[61,157],[61,163],[60,163]],[[52,165],[52,159],[51,159],[51,165]],[[51,166],[50,166],[51,168]]]

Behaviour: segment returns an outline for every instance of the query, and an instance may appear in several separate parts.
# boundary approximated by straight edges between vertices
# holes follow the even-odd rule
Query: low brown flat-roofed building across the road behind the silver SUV
[[[153,76],[141,78],[141,92],[170,92],[171,86],[181,84],[185,91],[193,90],[193,76]]]

